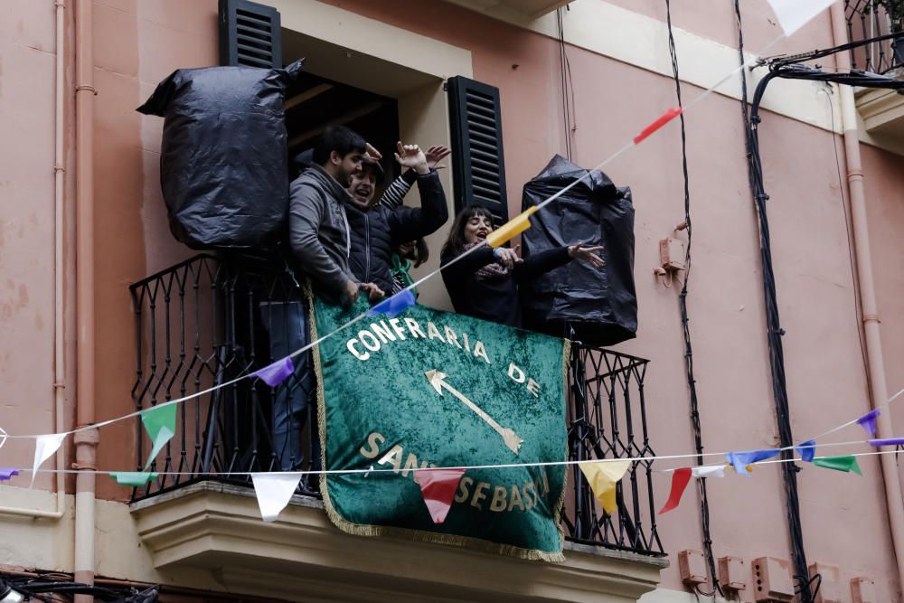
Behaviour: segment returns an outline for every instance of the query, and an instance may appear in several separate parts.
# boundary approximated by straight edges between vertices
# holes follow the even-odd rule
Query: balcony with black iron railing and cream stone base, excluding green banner
[[[267,341],[273,325],[263,324],[260,308],[300,303],[301,296],[291,273],[272,266],[199,255],[131,287],[137,410],[275,360]],[[581,345],[572,354],[565,426],[570,459],[652,455],[647,361]],[[667,561],[655,523],[652,461],[634,464],[622,479],[618,511],[611,515],[578,466],[570,467],[561,564],[348,536],[329,522],[313,480],[302,480],[277,522],[262,522],[248,473],[286,462],[275,451],[270,403],[305,378],[290,377],[277,388],[237,382],[178,407],[177,434],[152,468],[167,475],[136,488],[131,504],[142,542],[163,575],[207,570],[231,591],[292,600],[635,601],[658,583]],[[297,470],[311,468],[312,424],[309,414],[302,458],[291,459]],[[138,421],[135,429],[139,465],[149,443]]]

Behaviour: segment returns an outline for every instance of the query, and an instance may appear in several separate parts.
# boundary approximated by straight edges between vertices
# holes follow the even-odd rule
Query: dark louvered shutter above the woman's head
[[[508,221],[499,89],[457,76],[448,97],[456,212],[479,205]]]

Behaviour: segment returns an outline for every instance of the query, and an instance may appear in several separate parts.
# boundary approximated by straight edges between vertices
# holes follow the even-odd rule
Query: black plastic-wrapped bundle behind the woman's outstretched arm
[[[524,184],[523,209],[542,203],[587,173],[556,155]],[[637,294],[631,189],[618,188],[606,174],[594,171],[534,214],[531,221],[532,228],[522,235],[525,256],[581,241],[587,246],[602,245],[600,255],[606,266],[596,269],[571,261],[523,283],[523,325],[591,345],[613,345],[634,338]]]

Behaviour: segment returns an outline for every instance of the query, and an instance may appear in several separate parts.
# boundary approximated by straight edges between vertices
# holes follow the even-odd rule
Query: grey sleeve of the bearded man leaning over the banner
[[[289,241],[301,269],[325,287],[327,293],[341,297],[349,277],[330,259],[318,236],[327,212],[325,203],[314,186],[292,183],[288,202]]]

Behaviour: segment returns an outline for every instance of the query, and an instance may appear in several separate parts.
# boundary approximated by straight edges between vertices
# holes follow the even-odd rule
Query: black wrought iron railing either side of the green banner
[[[274,266],[276,266],[274,268]],[[230,382],[277,360],[268,334],[286,330],[290,313],[264,311],[303,304],[301,287],[285,264],[198,255],[130,287],[137,325],[137,410]],[[644,398],[647,362],[622,353],[572,346],[568,433],[570,460],[652,455]],[[241,380],[178,406],[176,436],[155,459],[163,475],[133,491],[133,500],[203,480],[250,487],[249,472],[316,468],[314,405],[297,425],[300,458],[280,451],[272,416],[275,400],[311,389],[311,374],[296,374],[276,388]],[[278,423],[278,421],[276,421]],[[135,461],[150,451],[136,421]],[[652,461],[633,464],[618,485],[618,511],[604,513],[577,465],[570,467],[562,519],[569,540],[645,555],[663,555],[656,530]],[[315,480],[298,494],[319,496]]]

